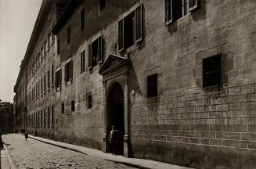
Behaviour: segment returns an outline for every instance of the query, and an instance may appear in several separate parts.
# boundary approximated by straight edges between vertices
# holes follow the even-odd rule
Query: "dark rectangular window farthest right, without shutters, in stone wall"
[[[203,87],[222,84],[222,54],[203,59]]]

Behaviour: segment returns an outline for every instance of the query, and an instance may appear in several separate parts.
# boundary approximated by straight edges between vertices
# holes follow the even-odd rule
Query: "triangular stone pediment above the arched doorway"
[[[101,75],[107,74],[108,72],[115,70],[118,67],[127,66],[129,62],[130,62],[130,59],[111,54],[103,63],[103,66],[99,70],[99,74]]]

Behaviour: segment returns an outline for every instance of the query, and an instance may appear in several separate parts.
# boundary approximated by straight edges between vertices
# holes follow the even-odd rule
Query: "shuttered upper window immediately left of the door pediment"
[[[97,63],[103,62],[103,37],[100,36],[88,45],[88,68],[95,67]]]

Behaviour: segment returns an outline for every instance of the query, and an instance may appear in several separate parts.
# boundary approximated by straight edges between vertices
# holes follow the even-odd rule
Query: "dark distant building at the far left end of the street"
[[[13,104],[0,102],[0,133],[13,132]]]

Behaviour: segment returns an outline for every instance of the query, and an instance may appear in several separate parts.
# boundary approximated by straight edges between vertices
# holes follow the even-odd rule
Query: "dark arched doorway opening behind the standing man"
[[[107,97],[107,133],[110,133],[111,126],[118,131],[117,153],[124,154],[124,92],[121,85],[115,82],[111,85]]]

